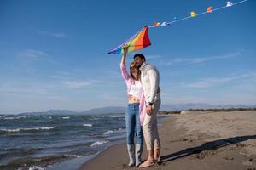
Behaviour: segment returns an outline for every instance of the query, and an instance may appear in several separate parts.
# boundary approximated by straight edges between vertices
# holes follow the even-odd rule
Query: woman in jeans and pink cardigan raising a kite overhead
[[[127,86],[128,106],[125,112],[125,123],[127,150],[130,158],[128,165],[131,167],[134,165],[139,166],[142,163],[143,130],[141,125],[143,123],[143,113],[145,113],[145,110],[140,70],[137,69],[136,65],[132,62],[130,65],[130,75],[128,75],[125,65],[128,47],[123,49],[124,54],[121,59],[120,69]],[[135,134],[137,139],[136,147],[134,144]]]

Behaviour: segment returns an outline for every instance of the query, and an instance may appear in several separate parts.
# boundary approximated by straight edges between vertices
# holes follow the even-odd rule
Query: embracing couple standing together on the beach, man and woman
[[[123,49],[120,69],[127,86],[128,105],[125,123],[130,158],[128,165],[150,167],[160,161],[160,139],[157,129],[157,112],[160,109],[159,71],[153,65],[148,65],[143,54],[135,54],[129,74],[125,64],[128,47]],[[148,159],[142,163],[144,140]]]

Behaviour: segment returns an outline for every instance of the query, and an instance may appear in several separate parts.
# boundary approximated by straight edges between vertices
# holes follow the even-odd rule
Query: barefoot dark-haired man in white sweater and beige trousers
[[[140,167],[153,166],[160,161],[160,139],[157,129],[157,112],[160,109],[160,75],[159,71],[146,63],[143,54],[135,54],[135,65],[141,70],[141,81],[146,100],[146,111],[143,122],[143,134],[148,150],[148,159]]]

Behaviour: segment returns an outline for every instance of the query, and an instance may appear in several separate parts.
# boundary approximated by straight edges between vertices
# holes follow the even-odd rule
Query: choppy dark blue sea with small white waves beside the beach
[[[0,115],[0,169],[79,169],[124,141],[125,114]]]

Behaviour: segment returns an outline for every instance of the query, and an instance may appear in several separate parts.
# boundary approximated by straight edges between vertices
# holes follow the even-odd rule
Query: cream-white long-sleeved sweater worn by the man
[[[153,66],[144,62],[141,65],[141,81],[146,102],[154,103],[154,100],[160,99],[160,75],[159,71]]]

